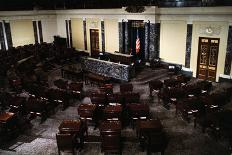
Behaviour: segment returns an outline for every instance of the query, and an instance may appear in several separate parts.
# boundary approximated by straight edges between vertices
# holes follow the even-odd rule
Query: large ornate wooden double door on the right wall
[[[215,81],[217,72],[219,39],[199,38],[198,70],[199,79]]]

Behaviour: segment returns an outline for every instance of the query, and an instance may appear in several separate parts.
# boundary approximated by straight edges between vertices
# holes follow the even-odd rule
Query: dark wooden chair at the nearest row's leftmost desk
[[[75,135],[58,133],[56,134],[56,142],[59,155],[61,151],[71,151],[75,155]]]

